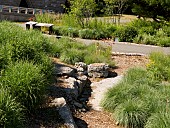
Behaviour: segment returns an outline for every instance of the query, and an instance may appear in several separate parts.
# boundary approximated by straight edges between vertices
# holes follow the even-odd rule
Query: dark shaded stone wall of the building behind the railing
[[[53,10],[55,12],[63,12],[62,4],[66,0],[25,0],[28,7],[37,9]],[[0,0],[1,5],[19,7],[21,0]]]

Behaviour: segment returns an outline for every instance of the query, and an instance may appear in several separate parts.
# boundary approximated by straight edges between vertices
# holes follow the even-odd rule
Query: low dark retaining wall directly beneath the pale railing
[[[29,19],[32,17],[34,17],[33,14],[0,12],[1,21],[9,20],[9,21],[17,21],[17,22],[26,22],[29,21]]]

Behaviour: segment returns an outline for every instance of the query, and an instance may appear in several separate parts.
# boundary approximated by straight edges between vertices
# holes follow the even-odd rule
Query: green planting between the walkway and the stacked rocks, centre
[[[99,44],[84,45],[68,38],[61,38],[55,43],[56,54],[64,62],[75,64],[83,61],[87,64],[103,62],[114,66],[111,60],[111,47],[102,47]]]

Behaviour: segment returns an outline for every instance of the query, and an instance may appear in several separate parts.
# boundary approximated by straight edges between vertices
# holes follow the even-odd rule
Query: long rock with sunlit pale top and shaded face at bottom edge
[[[64,120],[64,124],[68,127],[68,128],[77,128],[76,123],[74,122],[72,113],[70,111],[69,106],[66,104],[66,101],[63,97],[61,98],[55,98],[51,105],[54,105],[55,107],[58,106],[58,110],[59,110],[59,115],[61,116],[61,118]]]

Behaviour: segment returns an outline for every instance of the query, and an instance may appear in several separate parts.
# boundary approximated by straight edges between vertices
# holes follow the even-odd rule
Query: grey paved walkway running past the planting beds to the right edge
[[[135,53],[149,55],[151,52],[163,52],[170,55],[170,47],[159,47],[144,44],[134,44],[126,42],[113,42],[113,41],[98,41],[76,38],[77,41],[83,42],[87,45],[98,42],[101,45],[112,45],[112,52],[116,53]]]

